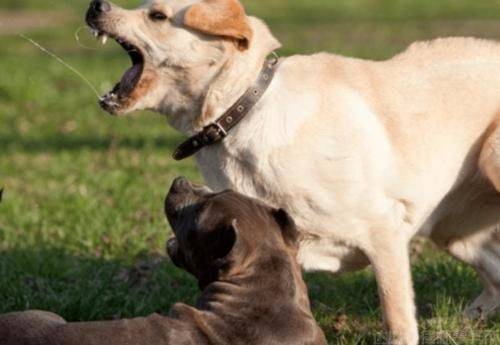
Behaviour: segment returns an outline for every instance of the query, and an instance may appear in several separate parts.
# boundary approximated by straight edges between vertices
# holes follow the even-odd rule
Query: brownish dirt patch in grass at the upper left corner
[[[73,19],[67,11],[0,11],[0,35],[57,27]]]

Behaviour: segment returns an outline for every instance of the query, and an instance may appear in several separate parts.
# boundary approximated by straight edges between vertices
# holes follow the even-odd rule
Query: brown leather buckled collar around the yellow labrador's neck
[[[199,152],[204,147],[216,144],[222,141],[229,131],[233,129],[246,114],[260,100],[264,92],[271,84],[276,67],[278,66],[278,58],[268,60],[264,63],[264,67],[260,72],[257,81],[233,104],[228,111],[219,117],[215,122],[209,124],[201,132],[193,135],[191,138],[183,142],[175,150],[173,157],[175,160],[183,160],[191,157]]]

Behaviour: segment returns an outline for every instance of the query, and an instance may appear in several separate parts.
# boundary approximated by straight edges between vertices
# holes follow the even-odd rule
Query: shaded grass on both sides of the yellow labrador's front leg
[[[434,306],[443,299],[460,308],[481,292],[475,272],[453,259],[423,259],[412,267],[418,313],[432,317]],[[332,276],[308,273],[306,282],[313,305],[337,314],[381,317],[377,284],[370,269]]]

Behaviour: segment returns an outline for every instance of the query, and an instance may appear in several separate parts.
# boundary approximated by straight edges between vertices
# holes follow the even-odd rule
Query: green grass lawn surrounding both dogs
[[[104,91],[129,62],[116,46],[95,51],[76,44],[87,3],[9,1],[0,10],[37,11],[30,17],[35,22],[48,15],[43,11],[63,11],[63,24],[18,31]],[[327,50],[382,59],[419,39],[500,38],[500,0],[246,4],[270,23],[283,55]],[[3,16],[0,24],[9,14]],[[96,46],[83,33],[82,41]],[[166,190],[178,175],[201,180],[192,161],[170,158],[182,136],[155,114],[105,115],[81,80],[20,37],[0,35],[0,45],[0,313],[39,308],[72,321],[98,320],[193,302],[194,280],[164,254]],[[500,343],[498,317],[473,323],[461,316],[464,304],[480,292],[469,268],[426,247],[414,259],[413,274],[426,344]],[[377,342],[383,326],[369,271],[306,279],[315,315],[332,344]]]

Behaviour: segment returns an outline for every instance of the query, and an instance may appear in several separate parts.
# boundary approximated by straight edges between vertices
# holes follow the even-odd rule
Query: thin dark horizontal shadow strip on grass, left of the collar
[[[47,152],[62,152],[62,151],[108,151],[114,148],[126,149],[144,149],[146,147],[164,148],[175,150],[177,146],[185,140],[179,135],[165,135],[165,137],[156,138],[103,138],[103,137],[78,137],[60,135],[58,137],[40,138],[40,139],[23,139],[21,137],[2,137],[0,138],[0,147],[4,152],[23,151],[29,153],[47,153]]]

